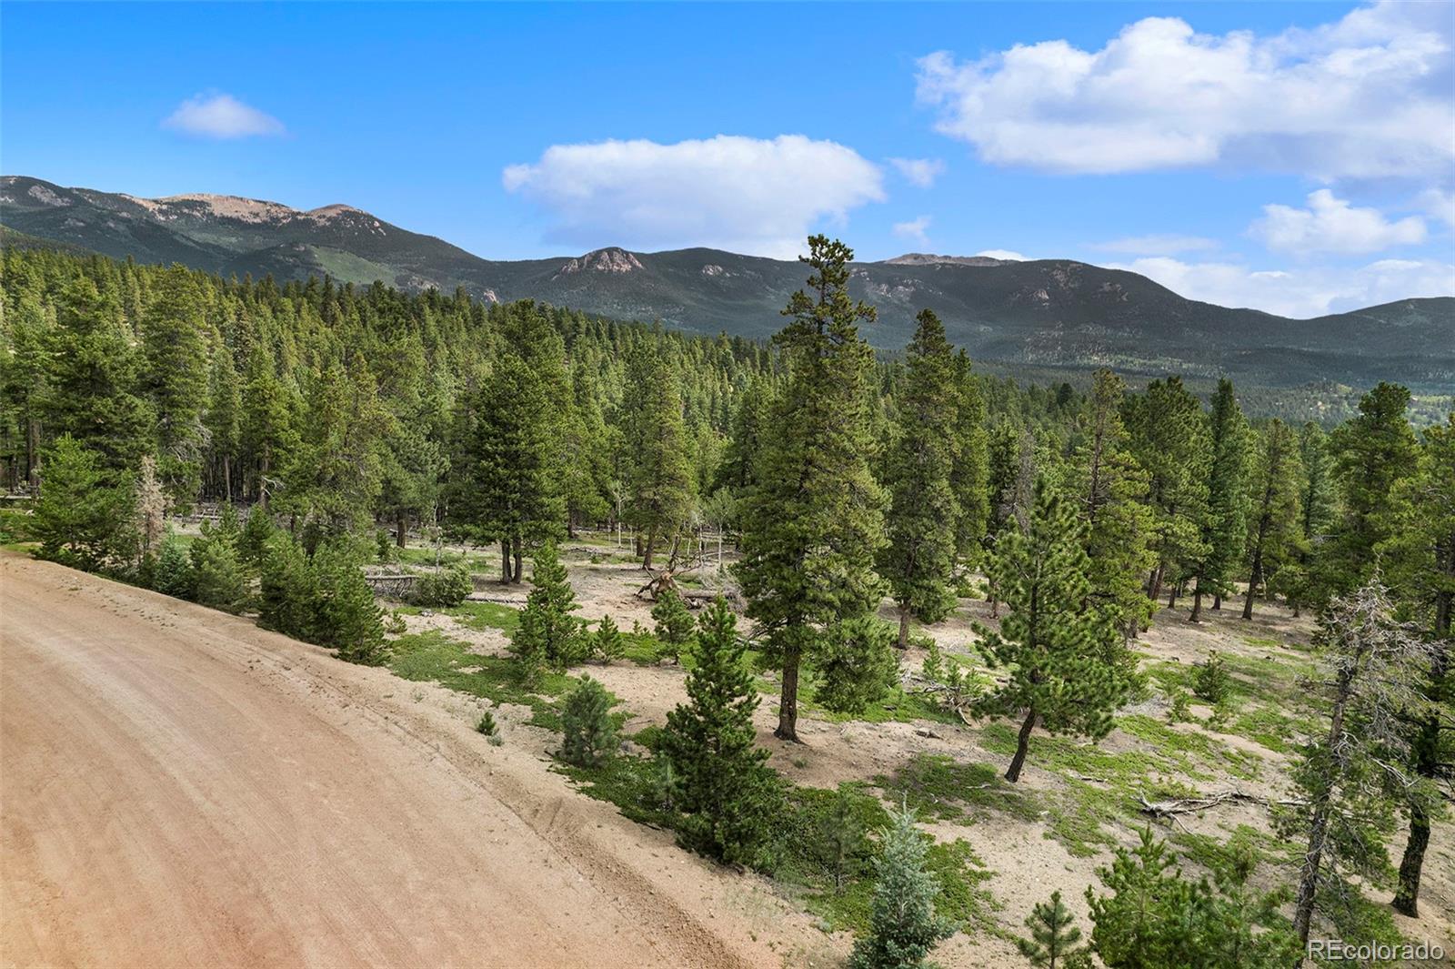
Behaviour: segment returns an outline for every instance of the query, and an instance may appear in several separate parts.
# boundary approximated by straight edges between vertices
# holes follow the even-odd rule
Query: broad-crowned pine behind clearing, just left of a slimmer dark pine
[[[1180,377],[1154,380],[1147,393],[1129,397],[1123,419],[1132,434],[1132,454],[1148,473],[1152,509],[1152,550],[1157,565],[1147,595],[1157,599],[1171,578],[1203,554],[1202,522],[1208,514],[1208,464],[1212,444],[1197,399]]]

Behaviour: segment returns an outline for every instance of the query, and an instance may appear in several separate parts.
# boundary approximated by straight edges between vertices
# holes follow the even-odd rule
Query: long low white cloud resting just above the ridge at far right
[[[1307,319],[1395,300],[1455,295],[1455,263],[1381,259],[1365,266],[1250,269],[1229,262],[1187,263],[1165,256],[1113,269],[1139,272],[1189,300]]]

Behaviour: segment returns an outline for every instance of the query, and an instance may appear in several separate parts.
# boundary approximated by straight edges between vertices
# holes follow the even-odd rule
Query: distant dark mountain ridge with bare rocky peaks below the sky
[[[118,259],[180,262],[279,279],[466,288],[483,300],[537,298],[618,319],[762,338],[803,285],[796,262],[716,249],[490,260],[349,205],[300,211],[227,195],[129,195],[0,178],[0,226]],[[898,349],[933,308],[973,356],[1039,368],[1229,374],[1266,386],[1400,380],[1455,391],[1455,298],[1401,300],[1314,320],[1187,300],[1151,279],[1068,259],[1013,262],[906,253],[853,266],[851,292],[873,303],[864,327]]]

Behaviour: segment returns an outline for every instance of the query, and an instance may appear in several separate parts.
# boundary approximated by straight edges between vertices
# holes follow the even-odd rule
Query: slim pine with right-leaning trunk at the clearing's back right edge
[[[1248,517],[1248,591],[1243,618],[1253,618],[1253,597],[1270,573],[1298,554],[1299,479],[1298,438],[1275,418],[1263,431],[1253,473],[1253,514]]]

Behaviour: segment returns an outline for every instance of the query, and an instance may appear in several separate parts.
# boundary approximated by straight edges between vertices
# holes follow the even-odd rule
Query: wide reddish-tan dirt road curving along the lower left
[[[409,693],[0,554],[0,962],[780,963],[745,879]]]

